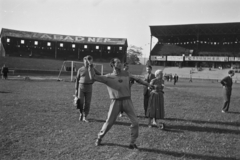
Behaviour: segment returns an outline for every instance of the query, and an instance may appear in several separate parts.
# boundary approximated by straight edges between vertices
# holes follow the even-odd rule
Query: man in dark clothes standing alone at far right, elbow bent
[[[234,76],[234,71],[230,70],[228,71],[228,76],[224,77],[220,83],[223,86],[223,108],[222,108],[222,112],[226,113],[229,110],[229,105],[230,105],[230,98],[231,98],[231,94],[232,94],[232,77]]]

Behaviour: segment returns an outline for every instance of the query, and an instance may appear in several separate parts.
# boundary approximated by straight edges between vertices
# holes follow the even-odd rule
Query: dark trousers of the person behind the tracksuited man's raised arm
[[[84,117],[87,117],[90,111],[92,92],[83,92],[80,90],[79,98],[80,102],[77,106],[77,109],[80,110],[80,113],[83,114]]]

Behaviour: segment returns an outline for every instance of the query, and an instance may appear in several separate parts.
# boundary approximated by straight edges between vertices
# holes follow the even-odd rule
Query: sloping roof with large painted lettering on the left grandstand
[[[33,39],[33,40],[61,41],[61,42],[82,43],[82,44],[128,46],[126,38],[83,37],[83,36],[19,31],[19,30],[12,30],[12,29],[6,29],[6,28],[2,29],[1,37],[16,37],[16,38],[26,38],[26,39]]]

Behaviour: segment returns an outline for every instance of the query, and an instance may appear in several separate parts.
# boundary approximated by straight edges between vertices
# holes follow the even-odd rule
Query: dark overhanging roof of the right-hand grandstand
[[[150,26],[151,35],[160,41],[179,38],[226,37],[240,40],[240,23],[211,23]],[[183,40],[185,41],[185,40]]]

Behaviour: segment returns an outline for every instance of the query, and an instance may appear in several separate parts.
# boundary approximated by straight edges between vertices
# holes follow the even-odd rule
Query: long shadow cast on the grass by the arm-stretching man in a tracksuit
[[[122,144],[114,144],[114,143],[103,143],[102,146],[119,146],[123,148],[128,148],[128,145]],[[141,146],[138,149],[140,152],[150,152],[155,154],[164,154],[174,157],[180,158],[189,158],[189,159],[206,159],[206,160],[236,160],[235,157],[218,157],[218,156],[211,156],[211,155],[200,155],[200,154],[193,154],[193,153],[184,153],[184,152],[174,152],[174,151],[167,151],[167,150],[160,150],[154,148],[142,148]]]

